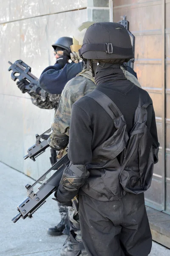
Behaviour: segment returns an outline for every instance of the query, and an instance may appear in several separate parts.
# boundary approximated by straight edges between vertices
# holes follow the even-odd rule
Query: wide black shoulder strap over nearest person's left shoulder
[[[111,116],[111,119],[114,120],[119,116],[122,116],[119,108],[107,95],[105,95],[105,93],[102,93],[99,90],[94,90],[85,95],[85,97],[94,99],[109,114],[109,116]]]

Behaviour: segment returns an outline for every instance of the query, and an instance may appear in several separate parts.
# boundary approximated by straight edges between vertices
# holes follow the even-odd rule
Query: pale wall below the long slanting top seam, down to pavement
[[[51,44],[61,36],[73,35],[74,29],[86,20],[87,11],[83,9],[0,24],[0,161],[34,179],[51,166],[50,150],[35,163],[24,161],[23,156],[35,143],[35,134],[51,127],[54,110],[34,106],[30,96],[20,92],[11,80],[8,61],[22,59],[39,78],[42,70],[55,62]]]

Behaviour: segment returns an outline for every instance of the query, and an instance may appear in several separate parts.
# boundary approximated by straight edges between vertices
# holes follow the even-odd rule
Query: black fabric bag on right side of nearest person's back
[[[127,158],[122,165],[120,183],[126,192],[140,194],[146,191],[153,176],[153,139],[147,126],[143,134],[133,134],[127,145]]]

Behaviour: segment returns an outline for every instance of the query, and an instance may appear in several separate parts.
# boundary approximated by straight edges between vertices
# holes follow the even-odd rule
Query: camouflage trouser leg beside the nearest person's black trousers
[[[82,242],[82,234],[79,224],[79,213],[73,207],[68,207],[68,218],[71,221],[70,241],[73,244],[76,256],[88,256]]]

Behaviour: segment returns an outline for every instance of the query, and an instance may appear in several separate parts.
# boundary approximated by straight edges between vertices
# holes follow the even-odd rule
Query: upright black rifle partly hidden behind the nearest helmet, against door
[[[135,56],[135,36],[129,31],[129,21],[126,20],[126,15],[122,16],[121,18],[123,18],[123,20],[118,21],[118,23],[120,23],[125,27],[125,29],[127,29],[127,32],[130,35],[130,39],[133,47],[133,58],[130,61],[128,61],[126,65],[133,69],[133,64],[135,62],[135,57],[134,57]]]

